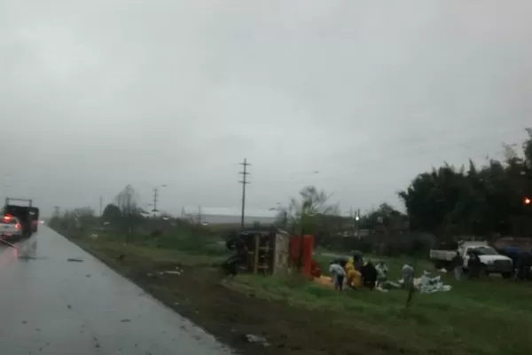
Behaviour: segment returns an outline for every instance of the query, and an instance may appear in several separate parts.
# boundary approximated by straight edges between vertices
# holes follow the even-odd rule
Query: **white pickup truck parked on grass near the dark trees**
[[[485,241],[466,241],[459,245],[458,252],[464,259],[464,271],[467,271],[469,252],[473,251],[480,257],[482,263],[482,273],[500,273],[505,279],[509,279],[513,274],[512,259],[497,253],[497,250],[489,247]],[[451,261],[456,256],[456,250],[430,250],[430,259],[436,267],[445,267],[450,270]]]

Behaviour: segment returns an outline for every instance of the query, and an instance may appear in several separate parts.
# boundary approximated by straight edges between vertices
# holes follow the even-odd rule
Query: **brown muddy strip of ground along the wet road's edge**
[[[137,255],[121,258],[115,250],[83,243],[81,246],[222,343],[245,354],[403,353],[367,336],[361,347],[361,339],[356,338],[364,331],[357,330],[355,322],[349,322],[351,316],[339,319],[331,313],[310,312],[255,297],[251,289],[235,282],[221,282],[220,272],[214,266],[187,266],[179,261],[160,263]],[[183,270],[180,275],[158,274],[176,267]],[[268,344],[250,342],[247,335],[261,336]]]

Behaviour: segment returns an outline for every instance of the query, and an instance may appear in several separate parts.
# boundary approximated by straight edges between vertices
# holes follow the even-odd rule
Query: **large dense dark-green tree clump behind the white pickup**
[[[411,229],[440,238],[532,235],[532,210],[522,202],[532,193],[532,130],[527,133],[522,154],[504,145],[503,162],[479,168],[470,161],[467,170],[444,164],[415,177],[399,193]]]

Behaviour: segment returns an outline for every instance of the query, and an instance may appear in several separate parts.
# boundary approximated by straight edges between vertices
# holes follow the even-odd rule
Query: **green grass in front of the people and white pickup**
[[[400,277],[400,270],[411,258],[382,258],[390,270],[390,279]],[[328,266],[330,256],[315,256],[319,264]],[[439,273],[425,260],[418,261],[418,276],[423,270]],[[451,273],[442,273],[445,283],[452,285],[450,292],[414,296],[411,307],[405,311],[407,292],[348,290],[334,292],[330,288],[294,277],[239,278],[254,288],[256,295],[284,300],[289,304],[312,309],[325,309],[339,315],[352,315],[359,323],[378,325],[383,336],[394,336],[397,341],[417,343],[422,353],[448,349],[464,354],[529,354],[532,351],[532,284],[492,277],[486,280],[452,279]],[[346,325],[347,326],[347,325]]]

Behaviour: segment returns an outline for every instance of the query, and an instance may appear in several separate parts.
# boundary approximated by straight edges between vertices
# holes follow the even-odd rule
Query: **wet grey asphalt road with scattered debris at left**
[[[230,353],[50,228],[18,245],[0,245],[0,353]]]

